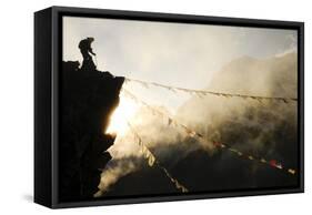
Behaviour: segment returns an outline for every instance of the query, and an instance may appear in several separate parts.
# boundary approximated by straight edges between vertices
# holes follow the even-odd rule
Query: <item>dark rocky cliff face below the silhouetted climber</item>
[[[59,198],[92,198],[101,168],[111,160],[105,152],[115,136],[104,134],[119,103],[124,78],[78,62],[63,62],[60,72]]]

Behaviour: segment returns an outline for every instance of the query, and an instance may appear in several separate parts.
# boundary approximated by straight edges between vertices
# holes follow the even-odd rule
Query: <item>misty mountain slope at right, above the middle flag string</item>
[[[243,57],[215,73],[208,90],[296,98],[296,75],[295,52],[264,60]],[[194,95],[179,109],[177,119],[207,140],[296,167],[296,102]]]

